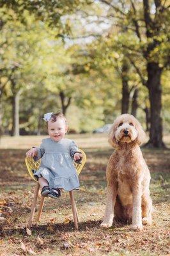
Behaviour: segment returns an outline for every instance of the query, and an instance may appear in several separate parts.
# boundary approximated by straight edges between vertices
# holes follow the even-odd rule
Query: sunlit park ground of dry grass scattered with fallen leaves
[[[114,223],[104,230],[106,180],[105,168],[112,148],[105,134],[68,135],[86,152],[87,161],[81,175],[81,189],[75,191],[79,230],[73,225],[68,193],[58,200],[47,198],[41,222],[26,229],[35,190],[24,158],[27,149],[40,145],[42,136],[3,137],[0,143],[0,255],[168,255],[168,182],[169,150],[144,149],[151,172],[153,224],[140,232],[130,225]],[[164,141],[170,147],[170,137]],[[40,199],[38,203],[40,202]],[[37,211],[36,213],[37,214]]]

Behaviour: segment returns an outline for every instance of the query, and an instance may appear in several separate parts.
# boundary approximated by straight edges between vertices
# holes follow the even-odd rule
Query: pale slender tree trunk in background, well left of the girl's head
[[[19,98],[20,91],[12,97],[12,136],[19,136]]]

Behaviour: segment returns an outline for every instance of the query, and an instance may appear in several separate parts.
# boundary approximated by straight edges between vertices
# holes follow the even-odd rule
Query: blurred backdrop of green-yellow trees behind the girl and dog
[[[0,0],[0,16],[1,133],[41,134],[43,113],[58,109],[72,132],[132,113],[148,147],[164,147],[167,1]]]

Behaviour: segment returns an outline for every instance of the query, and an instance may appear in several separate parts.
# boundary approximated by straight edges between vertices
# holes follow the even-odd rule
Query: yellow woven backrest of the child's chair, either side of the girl
[[[84,164],[86,163],[86,154],[84,153],[83,150],[79,149],[79,151],[81,152],[82,154],[82,161],[81,161],[81,164],[78,164],[78,163],[75,163],[73,162],[74,166],[75,166],[75,169],[77,171],[77,174],[79,175],[81,173],[81,170],[84,166]],[[39,166],[40,166],[40,163],[41,163],[41,159],[38,160],[38,161],[35,161],[33,159],[33,157],[26,157],[25,159],[26,161],[26,166],[27,166],[27,170],[29,172],[29,175],[31,176],[31,178],[33,180],[35,180],[37,182],[37,180],[35,179],[34,175],[33,175],[33,170],[38,170]]]

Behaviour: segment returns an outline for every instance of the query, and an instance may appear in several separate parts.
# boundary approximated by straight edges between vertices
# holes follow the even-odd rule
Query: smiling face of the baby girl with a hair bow
[[[65,137],[67,127],[65,120],[58,118],[56,122],[49,121],[48,123],[48,132],[49,136],[54,141],[59,141]]]

